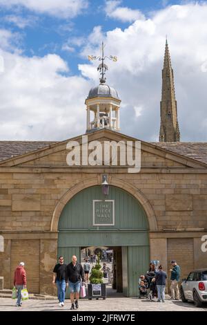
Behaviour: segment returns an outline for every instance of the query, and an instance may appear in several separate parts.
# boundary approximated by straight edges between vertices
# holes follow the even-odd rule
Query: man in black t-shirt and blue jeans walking
[[[64,301],[66,297],[66,286],[67,283],[67,266],[64,264],[64,259],[62,256],[59,257],[59,263],[56,264],[53,270],[53,281],[52,284],[57,285],[57,296],[59,299],[59,306],[64,306]]]

